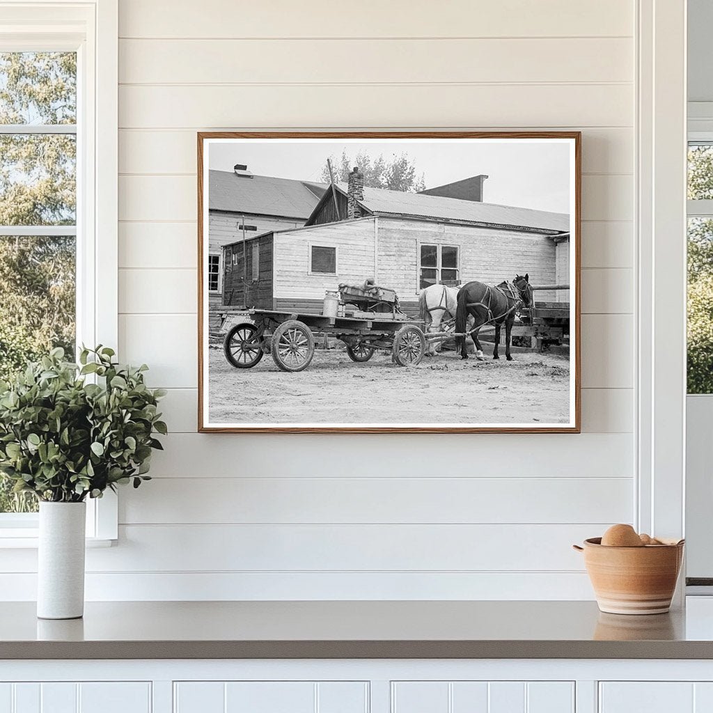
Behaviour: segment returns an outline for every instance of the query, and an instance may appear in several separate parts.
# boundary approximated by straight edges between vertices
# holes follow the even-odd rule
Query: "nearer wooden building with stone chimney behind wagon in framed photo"
[[[569,231],[567,214],[433,190],[364,188],[354,172],[349,185],[322,195],[303,227],[225,245],[223,301],[319,312],[327,289],[373,277],[415,313],[419,292],[429,284],[497,283],[525,272],[532,284],[568,284]],[[538,300],[566,302],[568,294],[538,292]]]

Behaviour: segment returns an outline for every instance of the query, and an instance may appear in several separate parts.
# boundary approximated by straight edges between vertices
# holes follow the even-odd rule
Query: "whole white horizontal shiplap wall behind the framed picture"
[[[591,597],[570,543],[634,511],[633,28],[633,0],[120,1],[120,352],[172,432],[88,597]],[[583,130],[583,434],[197,434],[195,132],[230,128]]]

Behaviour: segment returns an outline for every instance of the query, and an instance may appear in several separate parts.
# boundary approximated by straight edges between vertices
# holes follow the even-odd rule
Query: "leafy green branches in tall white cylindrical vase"
[[[86,498],[148,480],[165,434],[162,389],[148,366],[120,366],[113,349],[83,349],[79,364],[53,349],[0,382],[0,472],[39,499],[37,615],[81,617]]]

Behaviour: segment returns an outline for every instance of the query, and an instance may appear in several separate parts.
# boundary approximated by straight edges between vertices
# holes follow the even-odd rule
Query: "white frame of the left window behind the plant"
[[[9,4],[0,0],[0,18],[12,20],[0,34],[0,51],[77,53],[76,340],[77,344],[105,344],[120,352],[118,2],[24,0]],[[39,133],[39,129],[24,127],[24,133]],[[38,228],[43,235],[67,234],[47,226]],[[0,234],[22,235],[23,230],[0,226]],[[87,503],[88,540],[95,545],[116,540],[116,495],[107,491],[103,498]],[[0,513],[0,548],[36,547],[37,528],[36,513]]]

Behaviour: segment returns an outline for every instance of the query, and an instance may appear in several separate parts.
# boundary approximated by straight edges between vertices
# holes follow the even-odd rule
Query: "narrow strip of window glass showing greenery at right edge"
[[[688,149],[689,394],[713,394],[713,142]]]

